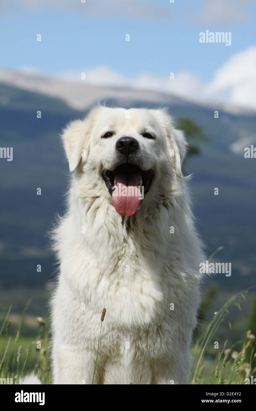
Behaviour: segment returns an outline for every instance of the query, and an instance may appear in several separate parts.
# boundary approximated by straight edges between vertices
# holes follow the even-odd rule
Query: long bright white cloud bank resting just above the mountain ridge
[[[141,73],[129,77],[104,66],[65,72],[60,78],[81,82],[81,72],[85,72],[87,84],[160,91],[201,103],[256,110],[256,46],[233,55],[208,83],[204,83],[199,74],[185,71],[175,73],[170,80],[167,72],[166,76]]]

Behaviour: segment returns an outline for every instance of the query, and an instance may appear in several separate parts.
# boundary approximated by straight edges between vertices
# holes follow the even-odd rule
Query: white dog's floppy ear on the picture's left
[[[86,160],[83,143],[88,133],[88,120],[74,120],[63,130],[61,138],[69,162],[69,170],[74,171],[80,162]]]

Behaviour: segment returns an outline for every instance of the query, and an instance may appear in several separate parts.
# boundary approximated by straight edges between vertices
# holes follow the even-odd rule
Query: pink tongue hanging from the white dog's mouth
[[[121,215],[133,215],[141,202],[141,191],[138,188],[139,173],[115,175],[116,188],[112,194],[112,201],[116,211]]]

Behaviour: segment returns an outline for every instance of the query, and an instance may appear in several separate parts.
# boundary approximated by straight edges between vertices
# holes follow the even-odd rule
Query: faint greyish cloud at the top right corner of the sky
[[[248,6],[252,0],[205,0],[199,20],[205,24],[233,24],[249,21]]]

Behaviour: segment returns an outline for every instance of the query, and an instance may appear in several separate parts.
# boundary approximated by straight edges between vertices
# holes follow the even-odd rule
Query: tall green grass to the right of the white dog
[[[249,289],[251,288],[255,287],[250,287]],[[249,330],[247,334],[244,335],[244,339],[236,342],[229,348],[227,347],[228,339],[222,347],[219,347],[216,337],[214,341],[214,336],[220,324],[224,322],[226,316],[230,314],[228,308],[234,304],[241,310],[240,297],[246,301],[244,294],[247,293],[249,289],[232,296],[218,312],[214,313],[214,317],[206,328],[205,333],[192,347],[191,351],[194,364],[190,377],[191,384],[244,384],[245,378],[255,374],[255,336],[252,335]],[[226,327],[228,335],[228,328],[232,328],[229,320],[227,321]],[[205,359],[211,344],[214,345],[216,354],[211,367],[207,367],[207,361],[205,361]],[[238,351],[236,351],[237,349]],[[204,372],[204,370],[206,372]]]

